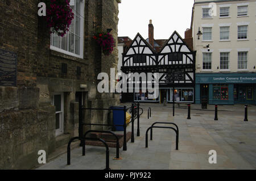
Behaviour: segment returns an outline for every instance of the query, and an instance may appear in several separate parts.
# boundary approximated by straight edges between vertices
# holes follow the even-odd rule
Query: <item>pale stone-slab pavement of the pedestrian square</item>
[[[130,106],[130,104],[127,104]],[[244,119],[244,105],[218,106],[218,120],[214,120],[214,105],[207,110],[201,105],[191,105],[191,119],[187,119],[187,105],[175,108],[172,105],[142,103],[144,112],[140,119],[140,136],[135,142],[127,142],[127,150],[120,149],[121,160],[115,157],[115,148],[110,148],[109,166],[112,170],[247,170],[256,169],[256,106],[248,107],[248,120]],[[151,117],[147,119],[147,109]],[[146,130],[156,121],[175,123],[179,127],[179,149],[175,149],[175,132],[171,129],[154,128],[153,140]],[[168,124],[158,126],[170,126]],[[131,125],[127,127],[131,131]],[[118,132],[120,133],[120,132]],[[148,133],[148,136],[149,133]],[[216,163],[209,163],[210,150],[216,151]],[[38,167],[38,170],[102,170],[106,167],[104,147],[86,146],[71,150],[71,165],[67,165],[67,153]],[[211,157],[212,158],[212,157]]]

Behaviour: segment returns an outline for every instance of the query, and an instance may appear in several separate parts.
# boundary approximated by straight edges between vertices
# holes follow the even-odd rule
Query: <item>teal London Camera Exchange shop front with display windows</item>
[[[256,104],[256,73],[197,73],[196,104]]]

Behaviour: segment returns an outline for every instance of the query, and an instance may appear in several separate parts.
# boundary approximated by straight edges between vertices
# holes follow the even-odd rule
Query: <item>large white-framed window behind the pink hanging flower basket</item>
[[[83,58],[84,55],[84,1],[71,0],[74,19],[64,37],[51,35],[51,49],[71,56]]]

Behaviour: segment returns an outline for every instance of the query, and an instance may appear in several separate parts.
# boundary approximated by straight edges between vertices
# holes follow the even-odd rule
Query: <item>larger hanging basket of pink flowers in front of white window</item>
[[[46,22],[51,33],[63,37],[74,19],[70,0],[44,0],[46,3]]]

